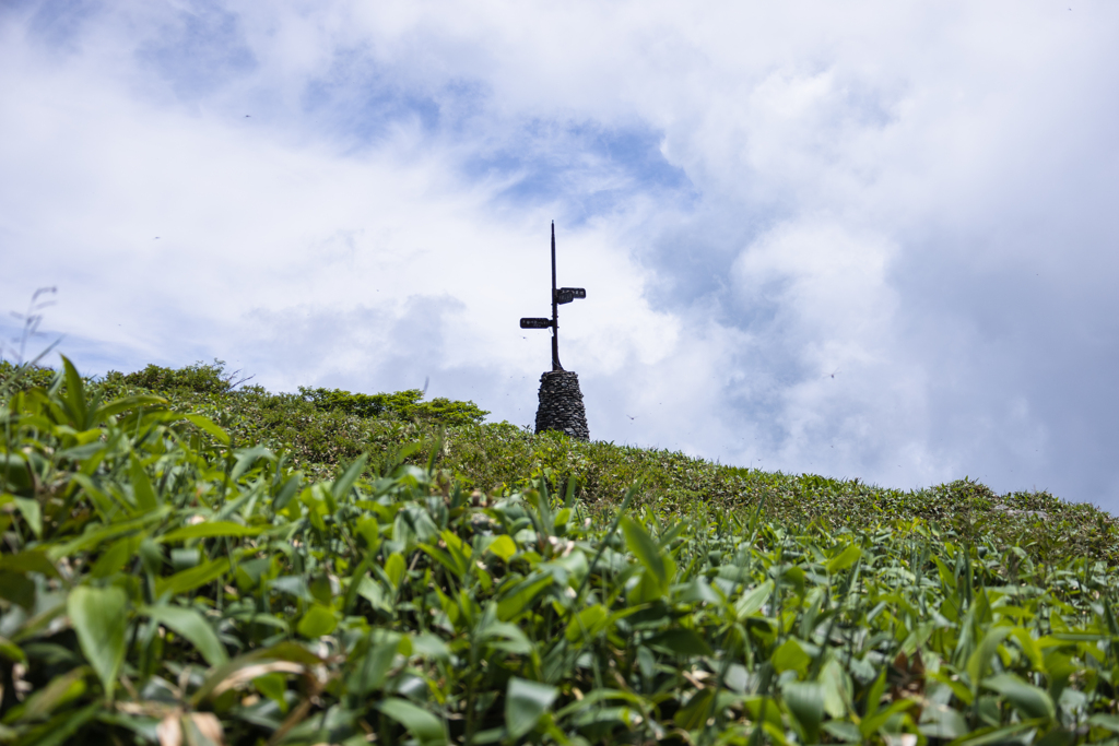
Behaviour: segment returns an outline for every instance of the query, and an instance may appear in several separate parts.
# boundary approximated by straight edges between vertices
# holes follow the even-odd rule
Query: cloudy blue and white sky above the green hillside
[[[7,0],[0,312],[57,289],[31,348],[91,375],[529,426],[554,220],[592,438],[1119,513],[1117,35],[1103,0]]]

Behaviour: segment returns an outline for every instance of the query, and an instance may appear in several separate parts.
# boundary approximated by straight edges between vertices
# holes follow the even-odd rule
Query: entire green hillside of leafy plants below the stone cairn
[[[1119,734],[1090,506],[65,366],[0,370],[0,743]]]

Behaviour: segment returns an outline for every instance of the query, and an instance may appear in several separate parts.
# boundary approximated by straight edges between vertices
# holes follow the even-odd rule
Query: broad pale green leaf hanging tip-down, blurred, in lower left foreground
[[[129,598],[121,588],[79,585],[66,598],[66,613],[77,633],[82,653],[112,697],[116,672],[124,660]]]

